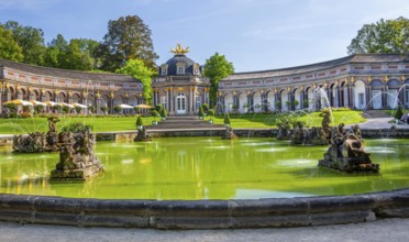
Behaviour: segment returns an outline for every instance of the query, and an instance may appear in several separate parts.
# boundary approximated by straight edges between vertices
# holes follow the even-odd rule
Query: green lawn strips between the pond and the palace
[[[321,112],[312,113],[292,113],[292,118],[303,121],[308,127],[321,127]],[[231,114],[232,128],[275,128],[279,117],[283,114]],[[334,124],[343,122],[345,124],[361,123],[365,119],[362,118],[362,111],[334,111]],[[135,130],[136,117],[60,117],[57,123],[57,129],[60,130],[64,125],[71,122],[84,122],[93,127],[93,132],[110,132],[110,131],[133,131]],[[208,120],[209,117],[206,118]],[[212,117],[214,123],[222,124],[223,117]],[[143,117],[143,123],[150,125],[153,121],[152,117]],[[158,120],[158,119],[156,119]],[[46,132],[46,118],[27,118],[27,119],[0,119],[0,134],[22,134],[29,132]]]

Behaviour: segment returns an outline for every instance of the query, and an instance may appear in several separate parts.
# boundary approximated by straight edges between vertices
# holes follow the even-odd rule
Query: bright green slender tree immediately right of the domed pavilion
[[[209,59],[206,59],[203,75],[210,79],[210,106],[214,107],[218,99],[219,81],[230,74],[234,73],[234,66],[228,62],[224,55],[215,53]]]

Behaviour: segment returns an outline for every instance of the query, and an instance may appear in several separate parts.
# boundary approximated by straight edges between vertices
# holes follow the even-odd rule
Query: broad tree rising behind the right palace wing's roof
[[[409,19],[380,19],[365,24],[351,41],[347,53],[409,53]]]

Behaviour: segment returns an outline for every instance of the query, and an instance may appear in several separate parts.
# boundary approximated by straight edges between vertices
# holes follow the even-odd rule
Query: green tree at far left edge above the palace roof
[[[10,30],[4,30],[0,25],[0,58],[21,62],[23,53],[19,44],[14,41]]]

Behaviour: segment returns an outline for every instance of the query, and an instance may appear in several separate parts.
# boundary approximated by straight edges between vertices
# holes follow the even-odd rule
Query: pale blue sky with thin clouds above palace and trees
[[[199,64],[215,52],[236,72],[294,67],[347,55],[365,23],[409,16],[408,0],[0,0],[0,22],[44,31],[46,42],[102,41],[109,20],[139,15],[152,31],[157,64],[177,43]]]

